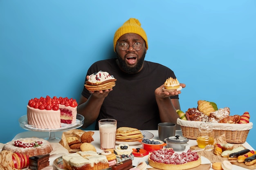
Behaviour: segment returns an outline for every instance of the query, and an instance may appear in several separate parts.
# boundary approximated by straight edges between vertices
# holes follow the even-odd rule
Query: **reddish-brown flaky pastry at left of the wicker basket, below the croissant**
[[[186,111],[186,118],[190,121],[208,121],[209,117],[196,108],[189,108]]]

